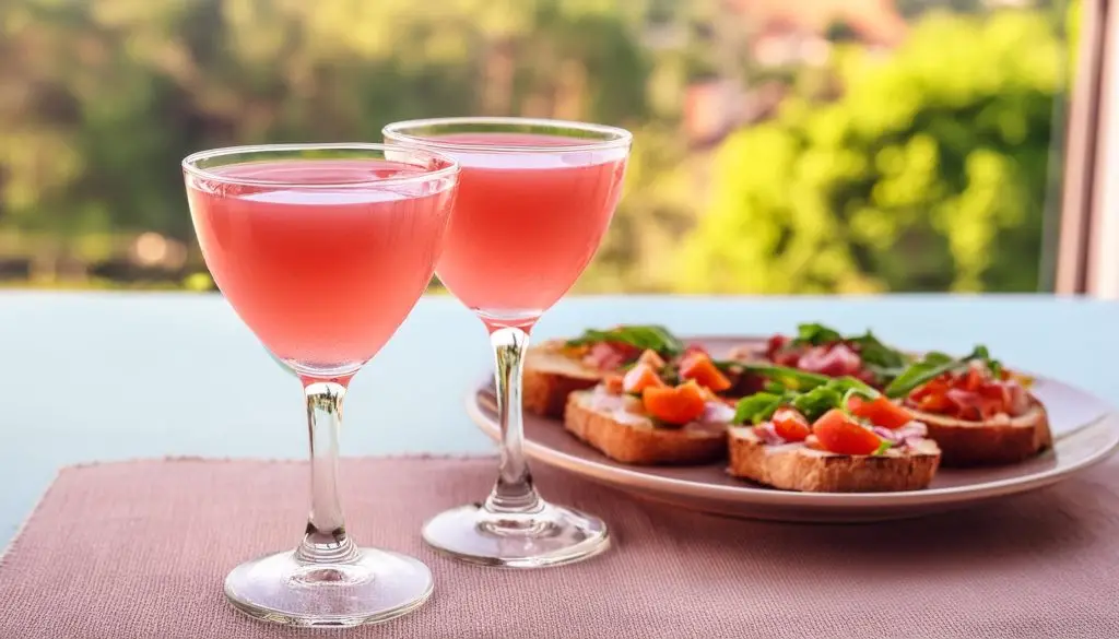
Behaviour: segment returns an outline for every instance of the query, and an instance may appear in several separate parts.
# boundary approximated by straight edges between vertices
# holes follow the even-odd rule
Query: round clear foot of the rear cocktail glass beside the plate
[[[423,538],[453,558],[510,568],[570,564],[610,547],[602,519],[551,504],[532,514],[453,508],[424,524]]]

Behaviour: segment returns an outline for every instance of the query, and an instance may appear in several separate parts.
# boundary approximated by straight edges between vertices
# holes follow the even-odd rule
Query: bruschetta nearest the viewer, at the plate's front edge
[[[782,490],[887,492],[928,488],[940,449],[924,424],[854,377],[775,367],[728,429],[730,474]],[[797,384],[783,383],[797,380]]]

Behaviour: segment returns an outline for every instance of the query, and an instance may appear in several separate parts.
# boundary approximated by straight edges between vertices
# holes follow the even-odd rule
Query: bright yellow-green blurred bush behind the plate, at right
[[[1063,54],[1033,11],[931,15],[887,57],[841,49],[839,100],[790,97],[726,140],[676,285],[1035,290]]]

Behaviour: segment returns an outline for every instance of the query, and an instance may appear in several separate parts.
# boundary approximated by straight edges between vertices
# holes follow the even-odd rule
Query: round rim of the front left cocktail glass
[[[269,179],[252,179],[252,178],[231,178],[229,176],[223,176],[214,171],[204,169],[197,165],[197,162],[203,160],[208,160],[211,158],[220,158],[223,156],[238,156],[238,154],[252,154],[252,153],[265,153],[265,152],[280,152],[285,151],[318,151],[318,150],[351,150],[351,151],[399,151],[404,153],[410,153],[412,156],[424,157],[429,160],[440,160],[446,162],[448,166],[439,169],[425,169],[422,173],[415,176],[402,176],[393,178],[375,178],[368,180],[354,180],[354,181],[342,181],[342,182],[299,182],[291,180],[269,180]],[[239,147],[222,147],[219,149],[209,149],[206,151],[196,151],[190,153],[182,159],[181,162],[182,170],[190,176],[203,178],[206,180],[216,180],[224,184],[234,184],[242,186],[258,186],[258,187],[293,187],[293,188],[332,188],[332,189],[346,189],[346,188],[360,188],[368,187],[373,185],[402,185],[412,182],[423,182],[433,179],[440,179],[444,177],[453,177],[459,173],[460,166],[459,161],[451,156],[431,151],[427,149],[421,149],[416,147],[410,147],[407,144],[391,144],[380,142],[325,142],[325,143],[299,143],[299,144],[246,144]],[[229,166],[229,165],[222,165]]]

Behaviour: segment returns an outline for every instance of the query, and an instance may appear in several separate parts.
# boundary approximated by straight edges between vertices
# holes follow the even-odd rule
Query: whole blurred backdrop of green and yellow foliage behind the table
[[[763,79],[714,0],[0,2],[0,257],[65,285],[122,235],[190,244],[194,150],[502,113],[636,133],[583,291],[1035,290],[1065,17],[902,4],[900,48],[848,37],[824,68],[781,69],[775,115],[708,150],[681,133],[689,83]],[[685,37],[651,46],[651,21]]]

